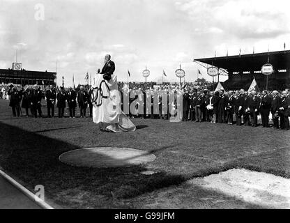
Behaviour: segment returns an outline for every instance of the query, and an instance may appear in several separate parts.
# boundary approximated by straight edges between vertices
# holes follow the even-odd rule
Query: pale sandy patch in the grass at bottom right
[[[290,208],[290,179],[273,174],[230,169],[220,174],[194,178],[189,183],[264,208]]]

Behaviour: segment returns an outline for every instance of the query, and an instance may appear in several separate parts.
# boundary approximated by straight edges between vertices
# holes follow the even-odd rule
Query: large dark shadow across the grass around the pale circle
[[[101,169],[71,167],[61,163],[59,155],[79,146],[1,122],[0,141],[1,167],[20,179],[31,191],[35,185],[44,185],[46,194],[65,207],[109,208],[114,204],[114,199],[135,199],[148,192],[181,185],[194,177],[238,167],[236,162],[231,162],[220,167],[204,167],[189,174],[162,171],[149,176],[140,173],[147,170],[142,165]],[[150,153],[174,146],[162,146]],[[96,204],[97,200],[102,202]]]

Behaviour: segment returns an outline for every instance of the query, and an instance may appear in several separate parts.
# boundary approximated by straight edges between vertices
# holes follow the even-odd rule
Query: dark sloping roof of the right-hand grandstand
[[[287,69],[290,67],[290,50],[265,52],[259,54],[244,54],[236,56],[221,56],[204,59],[194,59],[201,63],[213,65],[217,68],[223,68],[228,71],[247,71],[261,70],[261,66],[268,62],[271,63],[275,70]]]

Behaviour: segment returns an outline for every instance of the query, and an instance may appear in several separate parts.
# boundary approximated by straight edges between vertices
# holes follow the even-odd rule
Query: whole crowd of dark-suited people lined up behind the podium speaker
[[[124,86],[125,85],[125,86]],[[183,84],[183,86],[172,85],[169,83],[153,86],[153,84],[124,84],[119,82],[119,90],[121,92],[122,110],[123,93],[131,91],[142,92],[144,97],[139,98],[138,95],[130,97],[129,103],[138,99],[135,111],[129,111],[130,118],[162,118],[169,119],[171,112],[162,110],[162,96],[164,93],[174,91],[175,94],[182,95],[182,121],[194,122],[210,122],[210,123],[227,123],[229,125],[249,125],[258,126],[258,116],[261,116],[262,127],[268,128],[269,116],[273,119],[273,128],[289,130],[290,116],[290,95],[289,89],[284,91],[245,91],[243,89],[236,91],[224,91],[218,89],[210,91],[208,86]],[[151,105],[153,105],[154,96],[157,95],[158,112],[146,111],[146,95],[145,91],[152,92]],[[211,89],[212,90],[212,89]],[[76,109],[79,107],[80,117],[92,117],[93,88],[91,86],[79,86],[77,89],[64,89],[63,87],[47,86],[47,89],[41,89],[40,86],[22,86],[17,88],[12,84],[8,89],[1,89],[1,98],[10,96],[10,107],[12,107],[13,116],[43,116],[42,100],[45,100],[47,109],[47,117],[54,117],[54,108],[58,109],[59,118],[65,116],[65,109],[68,109],[70,118],[76,117]],[[162,95],[163,94],[163,95]],[[167,100],[168,102],[169,100]],[[139,109],[142,103],[142,111]],[[176,101],[174,107],[176,107]],[[22,113],[24,109],[25,114]],[[234,118],[235,117],[235,118]],[[243,121],[242,121],[243,120]]]

